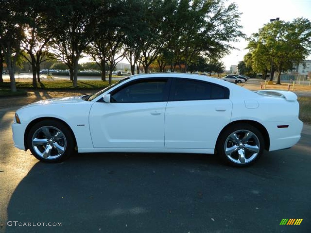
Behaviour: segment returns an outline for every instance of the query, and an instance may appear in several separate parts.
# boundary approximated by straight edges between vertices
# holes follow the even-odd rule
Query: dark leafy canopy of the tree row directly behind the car
[[[172,71],[178,66],[187,72],[202,57],[219,60],[233,48],[231,42],[244,36],[237,6],[225,0],[2,2],[1,57],[15,64],[12,57],[23,54],[32,64],[34,85],[48,51],[66,63],[76,86],[78,61],[85,55],[101,67],[103,80],[107,66],[111,80],[112,70],[123,57],[130,62],[132,73],[140,65],[148,72],[155,61],[162,71],[165,66]]]

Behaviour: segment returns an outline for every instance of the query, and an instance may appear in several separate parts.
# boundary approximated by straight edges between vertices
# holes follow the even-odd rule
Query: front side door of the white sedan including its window
[[[164,148],[168,79],[140,79],[112,91],[90,112],[95,148]]]

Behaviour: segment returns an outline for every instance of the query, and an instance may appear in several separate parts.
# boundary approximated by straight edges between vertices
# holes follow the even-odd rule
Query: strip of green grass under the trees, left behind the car
[[[114,81],[113,81],[114,83]],[[37,89],[43,90],[79,90],[79,89],[104,89],[109,86],[108,82],[100,80],[81,80],[78,81],[77,88],[74,88],[71,81],[67,80],[54,80],[54,81],[41,81],[37,84]],[[0,84],[0,88],[9,88],[10,83],[4,82]],[[34,89],[32,82],[16,82],[16,88],[18,89]]]

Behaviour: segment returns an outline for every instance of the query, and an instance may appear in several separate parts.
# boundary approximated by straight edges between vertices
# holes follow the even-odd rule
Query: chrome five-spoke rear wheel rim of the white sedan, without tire
[[[225,141],[225,154],[234,163],[246,164],[254,160],[260,150],[258,137],[249,130],[237,130]]]

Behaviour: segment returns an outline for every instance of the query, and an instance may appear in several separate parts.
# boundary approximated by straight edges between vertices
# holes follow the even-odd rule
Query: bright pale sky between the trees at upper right
[[[258,32],[258,29],[269,23],[270,19],[277,17],[282,21],[293,21],[299,17],[311,21],[311,0],[229,0],[228,2],[237,4],[238,11],[242,13],[240,16],[242,32],[247,36]],[[238,65],[248,53],[245,49],[247,42],[244,39],[232,45],[239,50],[231,50],[231,53],[222,59],[226,70],[230,70],[230,65]],[[311,56],[307,59],[311,59]]]

